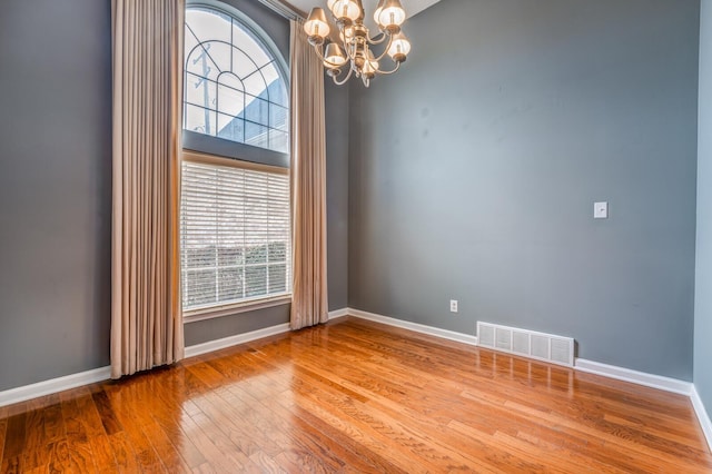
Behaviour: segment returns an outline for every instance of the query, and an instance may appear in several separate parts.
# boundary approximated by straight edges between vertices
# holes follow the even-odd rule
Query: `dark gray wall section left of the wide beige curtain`
[[[0,391],[109,363],[111,8],[0,14]]]

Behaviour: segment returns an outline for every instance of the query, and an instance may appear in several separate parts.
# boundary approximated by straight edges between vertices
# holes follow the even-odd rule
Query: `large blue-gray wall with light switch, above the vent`
[[[406,32],[352,88],[349,307],[691,381],[699,3],[443,0]]]

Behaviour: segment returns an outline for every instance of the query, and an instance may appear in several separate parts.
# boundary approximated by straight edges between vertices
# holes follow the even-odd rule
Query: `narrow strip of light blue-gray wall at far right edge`
[[[701,9],[694,385],[712,416],[712,0]]]

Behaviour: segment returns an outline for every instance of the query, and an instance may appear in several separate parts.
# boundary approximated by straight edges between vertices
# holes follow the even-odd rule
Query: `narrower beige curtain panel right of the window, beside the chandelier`
[[[291,20],[293,329],[328,320],[324,70],[303,24]]]

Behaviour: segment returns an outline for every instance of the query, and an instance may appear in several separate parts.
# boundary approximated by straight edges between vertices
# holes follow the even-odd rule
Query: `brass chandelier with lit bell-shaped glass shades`
[[[304,23],[309,43],[324,62],[326,73],[337,85],[345,83],[352,76],[360,77],[368,87],[376,75],[392,75],[405,62],[411,52],[411,41],[403,34],[400,26],[406,14],[399,0],[380,0],[374,12],[378,33],[370,37],[364,24],[364,6],[360,0],[327,0],[334,22],[338,27],[338,40],[329,38],[332,28],[324,10],[313,8]],[[327,42],[328,39],[328,42]],[[374,52],[374,47],[380,53]],[[395,63],[392,69],[382,69],[388,56]],[[348,72],[344,72],[347,69]]]

